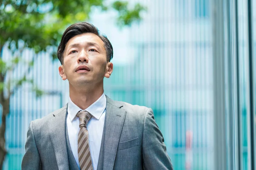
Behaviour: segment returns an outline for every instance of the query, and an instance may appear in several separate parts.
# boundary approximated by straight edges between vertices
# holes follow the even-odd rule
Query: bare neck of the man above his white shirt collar
[[[87,109],[96,102],[103,92],[103,85],[97,88],[83,88],[79,90],[70,85],[70,99],[82,110]]]

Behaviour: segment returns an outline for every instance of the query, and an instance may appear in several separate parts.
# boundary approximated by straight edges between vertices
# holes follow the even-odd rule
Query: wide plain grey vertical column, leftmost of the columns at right
[[[227,169],[225,114],[224,2],[212,1],[214,79],[214,169]]]

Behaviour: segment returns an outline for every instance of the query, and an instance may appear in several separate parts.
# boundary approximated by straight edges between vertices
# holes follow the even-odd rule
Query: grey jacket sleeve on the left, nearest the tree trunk
[[[29,124],[29,130],[27,133],[27,140],[25,144],[25,155],[22,159],[22,170],[41,170],[41,159],[38,153],[38,149],[35,143],[35,136],[33,132],[33,122]]]

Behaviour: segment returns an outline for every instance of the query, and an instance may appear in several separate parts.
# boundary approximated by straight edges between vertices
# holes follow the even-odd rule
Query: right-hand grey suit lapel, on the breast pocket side
[[[126,111],[122,110],[119,102],[107,97],[106,116],[102,134],[102,144],[99,153],[98,170],[112,170],[116,158]]]

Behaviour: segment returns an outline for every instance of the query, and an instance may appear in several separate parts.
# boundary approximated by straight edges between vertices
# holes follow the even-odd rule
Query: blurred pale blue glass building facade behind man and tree
[[[255,0],[129,2],[147,7],[140,23],[120,29],[114,11],[97,8],[89,20],[113,45],[105,94],[153,109],[175,170],[256,169]],[[35,60],[27,76],[45,93],[36,97],[25,83],[11,97],[6,170],[21,168],[29,122],[69,99],[59,61],[28,49],[22,57]],[[27,69],[20,64],[12,76]]]

